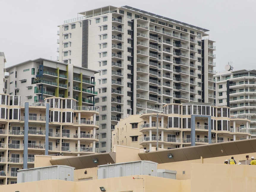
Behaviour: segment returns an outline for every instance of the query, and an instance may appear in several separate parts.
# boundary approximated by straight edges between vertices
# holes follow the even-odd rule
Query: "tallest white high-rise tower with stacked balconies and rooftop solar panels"
[[[57,60],[98,70],[99,151],[120,119],[189,101],[215,104],[214,41],[207,29],[137,8],[101,7],[59,26]]]

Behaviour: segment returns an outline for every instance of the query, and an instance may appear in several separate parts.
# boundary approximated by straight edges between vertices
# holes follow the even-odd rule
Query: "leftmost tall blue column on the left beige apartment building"
[[[29,102],[25,102],[23,169],[28,169],[28,142],[29,142]]]

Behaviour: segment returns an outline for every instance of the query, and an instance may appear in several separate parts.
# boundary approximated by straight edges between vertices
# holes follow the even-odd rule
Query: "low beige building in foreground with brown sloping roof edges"
[[[215,143],[211,145],[191,146],[170,150],[143,152],[142,149],[114,146],[114,152],[82,155],[78,157],[60,157],[36,155],[35,167],[54,166],[58,164],[75,167],[73,181],[38,180],[0,186],[1,191],[116,191],[116,192],[216,192],[216,191],[253,191],[255,186],[255,168],[247,166],[251,156],[256,156],[255,139]],[[225,165],[225,159],[231,156],[236,165]],[[172,158],[170,158],[172,157]],[[95,159],[97,164],[95,164]],[[157,163],[157,171],[173,170],[176,178],[163,175],[127,174],[132,164],[146,160]],[[83,163],[84,162],[84,163]],[[112,162],[112,164],[110,164]],[[145,161],[144,161],[145,162]],[[238,165],[238,162],[241,165]],[[115,173],[112,177],[99,179],[101,171],[107,167]],[[118,168],[119,166],[119,168]],[[121,167],[123,166],[123,168]],[[153,167],[145,167],[145,169]],[[118,172],[116,170],[124,170]],[[155,171],[155,170],[154,170]],[[119,176],[116,176],[118,175]]]

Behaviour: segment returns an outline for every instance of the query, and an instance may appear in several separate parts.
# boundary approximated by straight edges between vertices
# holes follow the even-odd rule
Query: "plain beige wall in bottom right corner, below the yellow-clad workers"
[[[256,166],[191,164],[191,192],[255,191]]]

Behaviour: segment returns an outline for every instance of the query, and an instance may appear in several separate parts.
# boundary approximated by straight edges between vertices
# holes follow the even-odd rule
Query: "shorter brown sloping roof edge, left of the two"
[[[94,163],[93,159],[97,159],[97,163]],[[75,169],[85,169],[97,167],[98,165],[105,165],[108,163],[116,163],[116,153],[97,153],[89,155],[80,155],[75,157],[66,157],[59,159],[51,159],[52,165],[67,165],[75,167]]]

